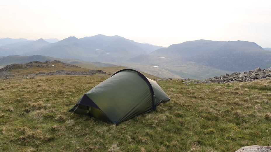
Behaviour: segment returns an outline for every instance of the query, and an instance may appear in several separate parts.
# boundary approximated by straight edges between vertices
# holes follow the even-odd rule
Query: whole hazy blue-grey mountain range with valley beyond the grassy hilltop
[[[176,78],[204,80],[226,73],[249,71],[257,67],[267,69],[271,67],[271,51],[268,49],[270,48],[262,48],[248,41],[210,40],[188,41],[166,48],[137,43],[117,35],[99,34],[81,39],[71,36],[56,43],[49,43],[43,39],[20,40],[1,46],[0,66],[5,66],[11,61],[18,63],[11,60],[15,56],[9,56],[10,59],[1,56],[21,55],[24,58],[39,58],[40,56],[35,55],[42,55],[46,56],[41,57],[44,58],[43,60],[36,60],[44,62],[56,58],[61,59],[62,62],[67,60],[65,63],[77,63],[77,60],[106,62],[146,73],[152,71],[152,75],[159,77],[170,75],[173,78],[176,76]],[[54,59],[49,59],[50,57]],[[22,60],[27,63],[31,59]],[[9,63],[6,62],[7,60]],[[18,56],[16,60],[20,60]],[[159,75],[161,70],[166,71],[167,74]],[[155,74],[155,71],[158,73]]]

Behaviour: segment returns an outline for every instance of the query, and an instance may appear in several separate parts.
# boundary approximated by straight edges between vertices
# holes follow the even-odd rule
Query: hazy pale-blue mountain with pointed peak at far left
[[[5,46],[1,46],[0,55],[8,56],[8,55],[21,55],[25,53],[30,53],[48,44],[51,44],[51,43],[44,41],[44,39],[38,39],[36,41],[16,42],[16,43],[8,44]]]

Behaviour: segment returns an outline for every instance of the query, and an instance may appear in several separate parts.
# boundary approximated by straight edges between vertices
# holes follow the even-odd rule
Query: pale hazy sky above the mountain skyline
[[[271,0],[1,0],[0,38],[103,34],[169,46],[206,39],[271,48]]]

